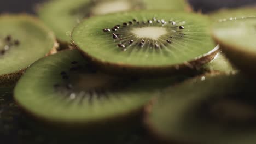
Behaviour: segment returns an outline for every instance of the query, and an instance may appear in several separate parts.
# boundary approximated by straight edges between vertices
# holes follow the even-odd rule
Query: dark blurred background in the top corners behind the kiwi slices
[[[0,0],[0,13],[34,13],[36,4],[45,0]],[[70,0],[72,1],[72,0]],[[167,0],[168,1],[168,0]],[[179,0],[177,0],[179,1]],[[195,10],[203,13],[222,7],[256,4],[256,0],[188,0]]]

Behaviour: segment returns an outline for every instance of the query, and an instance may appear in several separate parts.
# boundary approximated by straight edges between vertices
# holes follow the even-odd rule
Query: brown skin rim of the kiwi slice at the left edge
[[[26,14],[26,13],[21,13],[21,14],[1,14],[0,17],[9,17],[9,16],[17,16],[17,17],[25,17],[26,19],[30,19],[32,21],[34,21],[35,23],[37,23],[37,25],[39,25],[40,27],[42,27],[45,31],[51,32],[47,27],[45,27],[44,25],[42,25],[42,22],[37,19],[36,17]],[[46,56],[49,55],[53,55],[57,52],[57,48],[59,47],[59,44],[57,43],[56,37],[54,36],[54,34],[51,32],[51,35],[53,35],[53,41],[54,41],[54,45],[51,48],[51,50],[46,53]],[[29,66],[28,66],[29,67]],[[14,71],[13,73],[10,74],[3,74],[0,75],[0,87],[10,87],[10,86],[14,86],[15,83],[20,79],[20,77],[22,76],[22,74],[24,73],[24,71],[27,68],[18,70],[18,71]]]

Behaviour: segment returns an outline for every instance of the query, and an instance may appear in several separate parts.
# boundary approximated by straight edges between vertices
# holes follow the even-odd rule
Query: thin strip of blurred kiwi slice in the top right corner
[[[240,8],[230,8],[221,9],[214,11],[209,14],[213,20],[222,19],[237,19],[242,17],[254,17],[256,16],[256,7],[240,7]]]

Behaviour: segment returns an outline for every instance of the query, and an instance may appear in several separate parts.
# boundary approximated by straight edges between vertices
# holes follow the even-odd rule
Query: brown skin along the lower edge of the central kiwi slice
[[[72,45],[75,46],[75,49],[78,49],[85,59],[95,65],[98,69],[104,71],[104,73],[110,75],[119,75],[119,76],[140,76],[140,77],[164,77],[176,74],[184,74],[184,75],[194,75],[198,73],[198,70],[201,68],[203,64],[206,64],[212,61],[219,52],[219,46],[217,45],[213,50],[206,53],[203,56],[193,59],[192,61],[185,62],[183,64],[177,65],[168,65],[165,67],[139,67],[128,64],[118,64],[118,63],[110,63],[103,62],[100,59],[96,59],[88,55],[88,53],[84,52],[77,45],[75,45],[72,40]]]

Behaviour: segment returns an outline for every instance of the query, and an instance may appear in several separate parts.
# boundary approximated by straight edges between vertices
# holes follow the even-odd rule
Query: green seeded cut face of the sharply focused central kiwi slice
[[[140,67],[193,61],[214,49],[206,17],[140,11],[84,20],[72,32],[75,45],[102,62]]]

